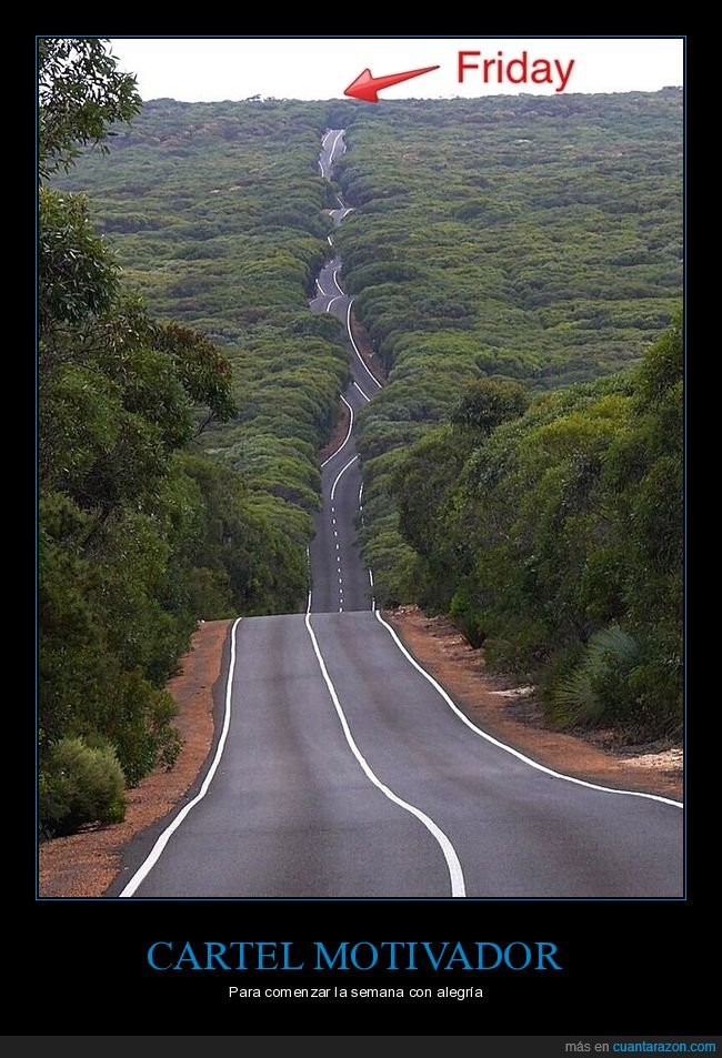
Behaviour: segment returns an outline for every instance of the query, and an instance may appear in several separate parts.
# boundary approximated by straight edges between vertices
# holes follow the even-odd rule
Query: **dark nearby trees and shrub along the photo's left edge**
[[[40,177],[138,109],[99,39],[40,42]],[[195,623],[199,490],[174,453],[228,419],[230,364],[123,298],[82,195],[39,194],[40,826],[122,818],[123,780],[171,766],[163,689]],[[121,770],[122,768],[122,770]]]

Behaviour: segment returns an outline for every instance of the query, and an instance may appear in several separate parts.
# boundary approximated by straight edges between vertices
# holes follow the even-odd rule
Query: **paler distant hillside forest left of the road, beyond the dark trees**
[[[317,452],[348,375],[340,324],[308,310],[331,226],[318,171],[327,110],[154,100],[117,135],[112,165],[89,153],[57,181],[92,193],[126,284],[173,321],[156,344],[170,350],[171,335],[192,328],[195,343],[200,332],[231,365],[231,421],[218,413],[225,392],[209,417],[212,394],[193,391],[208,410],[194,415],[194,451],[242,475],[258,542],[268,542],[272,570],[253,582],[244,612],[294,611],[305,595]],[[204,363],[218,379],[218,364]],[[185,386],[197,366],[191,379],[188,364]]]

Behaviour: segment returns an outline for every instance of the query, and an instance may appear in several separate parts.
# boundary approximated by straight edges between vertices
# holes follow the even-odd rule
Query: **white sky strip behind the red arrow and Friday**
[[[441,69],[383,90],[387,99],[479,97],[533,92],[554,84],[484,84],[479,72],[458,81],[459,51],[499,51],[504,61],[529,53],[574,68],[566,92],[655,91],[682,84],[682,38],[485,37],[217,37],[112,39],[120,68],[138,77],[143,99],[179,100],[343,98],[343,89],[369,67],[374,77],[439,64]],[[469,60],[479,62],[479,59]]]

